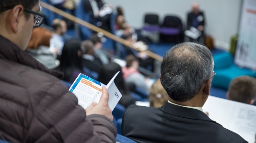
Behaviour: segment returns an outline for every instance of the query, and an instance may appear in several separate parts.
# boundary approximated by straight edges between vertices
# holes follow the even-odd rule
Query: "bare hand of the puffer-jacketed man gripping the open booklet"
[[[101,99],[99,103],[97,104],[96,102],[93,102],[91,106],[87,107],[85,109],[86,115],[91,115],[91,114],[100,114],[100,115],[105,115],[108,117],[110,120],[113,121],[113,115],[111,112],[111,109],[108,106],[108,99],[109,99],[109,94],[107,92],[107,89],[105,87],[102,87],[102,94],[101,94]]]

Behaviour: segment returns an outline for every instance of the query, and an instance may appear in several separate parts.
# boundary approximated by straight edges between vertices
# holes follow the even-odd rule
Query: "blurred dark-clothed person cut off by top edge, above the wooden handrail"
[[[112,32],[110,26],[110,14],[113,9],[109,4],[105,4],[102,0],[82,0],[85,12],[91,14],[91,23],[96,23],[96,26],[105,31]]]

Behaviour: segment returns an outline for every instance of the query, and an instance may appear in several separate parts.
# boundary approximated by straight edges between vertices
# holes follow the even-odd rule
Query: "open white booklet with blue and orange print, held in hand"
[[[116,73],[116,75],[119,72]],[[102,94],[102,86],[105,86],[109,93],[108,105],[111,111],[114,110],[116,104],[119,102],[122,94],[116,87],[114,79],[116,75],[108,82],[107,85],[98,82],[86,75],[79,74],[75,82],[70,87],[70,92],[73,92],[78,98],[78,104],[84,109],[89,107],[93,102],[99,102]]]

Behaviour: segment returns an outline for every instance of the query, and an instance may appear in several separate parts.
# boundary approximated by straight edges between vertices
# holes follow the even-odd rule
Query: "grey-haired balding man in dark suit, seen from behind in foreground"
[[[203,45],[185,42],[167,51],[160,80],[169,101],[160,108],[131,105],[123,135],[138,143],[248,143],[203,112],[210,94],[214,61]]]

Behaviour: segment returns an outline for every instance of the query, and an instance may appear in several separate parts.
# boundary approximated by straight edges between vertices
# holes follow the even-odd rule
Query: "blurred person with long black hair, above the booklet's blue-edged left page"
[[[70,39],[65,42],[58,71],[64,72],[63,80],[73,83],[79,73],[83,73],[81,58],[81,41]]]

